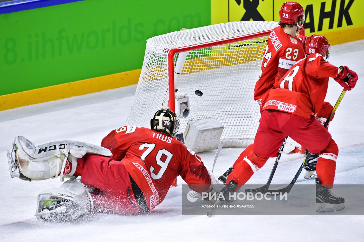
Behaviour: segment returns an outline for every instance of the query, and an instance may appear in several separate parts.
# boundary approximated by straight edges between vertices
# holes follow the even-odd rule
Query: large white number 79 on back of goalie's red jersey
[[[146,149],[145,152],[143,152],[142,156],[140,157],[142,161],[144,161],[144,159],[150,154],[150,152],[152,152],[152,150],[155,148],[155,144],[144,143],[141,146],[139,146],[139,150],[143,150],[146,147],[148,149]],[[165,161],[161,160],[162,155],[166,156]],[[167,169],[169,162],[172,159],[172,156],[173,156],[173,154],[166,149],[158,150],[157,156],[155,156],[155,162],[157,162],[157,165],[159,165],[161,167],[161,169],[159,169],[159,172],[154,173],[155,168],[153,166],[150,166],[150,176],[154,180],[162,178],[163,174],[165,173],[165,171]]]

